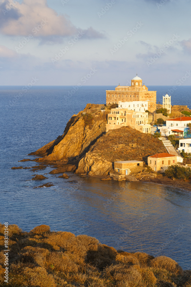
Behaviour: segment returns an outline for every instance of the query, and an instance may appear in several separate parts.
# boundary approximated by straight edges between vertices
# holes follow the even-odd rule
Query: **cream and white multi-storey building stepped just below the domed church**
[[[135,112],[126,108],[113,108],[107,115],[106,131],[130,126],[142,133],[150,133],[151,125],[148,124],[148,113]]]

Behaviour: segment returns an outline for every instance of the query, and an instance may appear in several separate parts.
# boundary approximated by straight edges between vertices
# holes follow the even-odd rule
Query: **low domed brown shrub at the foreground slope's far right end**
[[[150,261],[150,266],[166,269],[175,274],[182,272],[182,268],[173,259],[166,256],[159,256]]]

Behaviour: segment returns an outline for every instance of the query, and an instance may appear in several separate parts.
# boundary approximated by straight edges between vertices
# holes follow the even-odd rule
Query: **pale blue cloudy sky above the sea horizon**
[[[0,0],[0,85],[191,85],[190,0]]]

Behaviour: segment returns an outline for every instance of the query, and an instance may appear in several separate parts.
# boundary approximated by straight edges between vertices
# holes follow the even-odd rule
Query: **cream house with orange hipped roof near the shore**
[[[178,162],[178,156],[168,153],[154,154],[153,156],[148,156],[147,161],[148,166],[150,166],[152,170],[164,172],[168,166]]]

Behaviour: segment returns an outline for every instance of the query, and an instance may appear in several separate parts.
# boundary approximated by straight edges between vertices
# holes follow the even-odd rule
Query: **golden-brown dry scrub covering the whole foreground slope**
[[[127,253],[86,235],[50,232],[47,225],[23,232],[9,226],[9,283],[4,282],[4,226],[0,224],[0,286],[154,287],[191,286],[191,271],[172,259]]]

